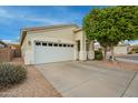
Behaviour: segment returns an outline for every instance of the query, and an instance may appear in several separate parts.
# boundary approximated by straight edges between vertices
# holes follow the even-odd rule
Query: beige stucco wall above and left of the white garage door
[[[33,41],[52,41],[52,42],[61,42],[61,43],[73,43],[75,44],[75,27],[60,28],[55,30],[42,30],[42,31],[33,31],[27,32],[27,35],[21,45],[22,58],[26,64],[32,64],[34,62],[34,50],[33,50]],[[31,42],[29,45],[28,42]]]

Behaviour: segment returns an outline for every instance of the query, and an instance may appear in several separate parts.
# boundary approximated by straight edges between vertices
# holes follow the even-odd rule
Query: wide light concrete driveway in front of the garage
[[[68,97],[138,96],[136,71],[99,69],[91,62],[60,62],[34,65]]]

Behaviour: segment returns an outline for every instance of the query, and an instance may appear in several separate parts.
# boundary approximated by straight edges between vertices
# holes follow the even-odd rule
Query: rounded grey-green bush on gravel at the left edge
[[[0,86],[19,83],[27,76],[27,71],[22,65],[0,63]]]

